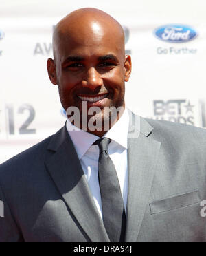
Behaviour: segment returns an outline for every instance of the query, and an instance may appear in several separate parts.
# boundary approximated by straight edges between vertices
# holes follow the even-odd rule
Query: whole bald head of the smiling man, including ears
[[[103,124],[108,120],[111,126],[117,122],[123,111],[111,120],[108,109],[124,109],[125,82],[131,72],[122,26],[101,10],[83,8],[56,25],[53,45],[54,60],[48,59],[47,70],[52,83],[58,85],[62,106],[65,110],[79,109],[80,124],[76,126],[80,129],[83,116],[87,119],[87,131],[103,136],[106,131],[90,129],[89,122]],[[92,107],[98,107],[98,111],[92,114]]]

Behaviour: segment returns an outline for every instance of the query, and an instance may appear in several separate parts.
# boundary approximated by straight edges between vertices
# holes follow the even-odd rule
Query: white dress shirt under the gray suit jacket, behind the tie
[[[104,137],[111,139],[111,143],[108,145],[108,154],[111,157],[111,160],[113,160],[113,164],[117,171],[125,211],[128,196],[128,125],[129,115],[127,109],[125,109],[122,117],[119,118],[115,125],[113,125],[113,127],[111,127],[111,129],[104,135]],[[102,200],[98,180],[98,160],[100,151],[98,145],[93,145],[93,142],[98,140],[99,137],[74,127],[69,119],[67,119],[67,131],[69,132],[78,158],[80,159],[95,205],[102,217]]]

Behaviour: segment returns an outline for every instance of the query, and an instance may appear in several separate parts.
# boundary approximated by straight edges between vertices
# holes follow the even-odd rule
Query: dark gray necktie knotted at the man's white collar
[[[124,242],[126,214],[113,161],[108,156],[109,138],[97,140],[99,146],[99,182],[102,198],[103,222],[111,242]]]

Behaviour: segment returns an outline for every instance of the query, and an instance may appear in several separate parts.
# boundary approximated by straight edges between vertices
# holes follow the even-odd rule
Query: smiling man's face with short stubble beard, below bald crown
[[[65,110],[78,107],[82,115],[82,102],[86,102],[87,110],[101,109],[95,119],[103,121],[104,107],[124,107],[130,56],[124,56],[117,36],[94,23],[87,31],[65,35],[57,47],[56,83]]]

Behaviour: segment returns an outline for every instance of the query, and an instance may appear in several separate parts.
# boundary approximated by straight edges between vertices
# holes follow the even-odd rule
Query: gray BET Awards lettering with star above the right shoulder
[[[195,125],[195,105],[190,100],[154,100],[153,105],[153,119]]]

